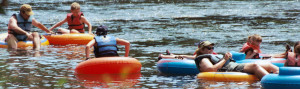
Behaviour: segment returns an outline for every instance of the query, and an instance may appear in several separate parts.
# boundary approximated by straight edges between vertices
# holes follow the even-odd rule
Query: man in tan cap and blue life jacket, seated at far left
[[[51,33],[43,24],[38,22],[34,17],[32,8],[28,4],[23,4],[20,7],[20,12],[15,13],[8,22],[8,36],[6,42],[9,49],[17,49],[18,41],[33,41],[33,49],[40,50],[40,35],[38,32],[32,32],[32,25]]]

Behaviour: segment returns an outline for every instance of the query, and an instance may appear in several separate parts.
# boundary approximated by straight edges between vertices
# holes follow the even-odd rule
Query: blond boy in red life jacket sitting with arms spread
[[[54,26],[50,28],[52,31],[54,28],[61,26],[62,24],[68,22],[68,29],[59,28],[58,32],[62,34],[69,34],[69,33],[84,33],[84,24],[88,25],[89,34],[92,33],[92,25],[90,22],[83,16],[83,13],[80,12],[80,5],[77,2],[71,4],[71,13],[67,14],[67,17],[56,23]]]

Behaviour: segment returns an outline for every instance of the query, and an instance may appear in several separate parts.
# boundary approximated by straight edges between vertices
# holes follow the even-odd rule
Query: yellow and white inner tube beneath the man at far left
[[[8,35],[8,33],[0,34],[0,48],[7,48],[7,43],[5,42],[7,35]],[[18,48],[32,47],[33,42],[32,41],[18,41],[17,45],[18,45]],[[41,46],[45,46],[45,45],[49,45],[49,41],[44,36],[42,36]]]

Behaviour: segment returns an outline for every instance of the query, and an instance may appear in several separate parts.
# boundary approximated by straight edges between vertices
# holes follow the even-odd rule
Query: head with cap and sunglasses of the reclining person
[[[214,43],[211,43],[209,41],[202,41],[198,44],[198,49],[196,50],[197,55],[202,54],[212,54],[214,51]]]

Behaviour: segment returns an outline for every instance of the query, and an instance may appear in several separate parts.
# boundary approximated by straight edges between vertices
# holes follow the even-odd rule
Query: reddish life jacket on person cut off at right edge
[[[300,66],[300,56],[297,58],[297,55],[293,52],[288,52],[286,59],[286,66]]]

